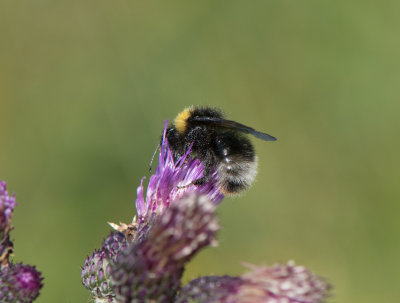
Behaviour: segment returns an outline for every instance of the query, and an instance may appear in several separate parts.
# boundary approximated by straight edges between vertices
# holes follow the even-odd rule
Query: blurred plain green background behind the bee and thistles
[[[163,120],[191,104],[278,137],[185,280],[294,259],[333,302],[399,302],[398,1],[2,1],[0,179],[36,302],[129,222]]]

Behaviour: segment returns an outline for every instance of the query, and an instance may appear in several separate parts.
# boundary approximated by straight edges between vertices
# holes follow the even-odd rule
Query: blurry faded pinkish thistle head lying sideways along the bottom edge
[[[177,303],[320,303],[330,285],[303,266],[249,266],[240,277],[202,277],[186,284]]]

